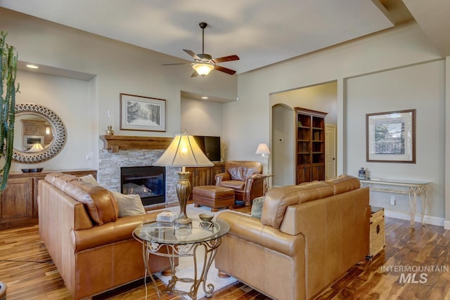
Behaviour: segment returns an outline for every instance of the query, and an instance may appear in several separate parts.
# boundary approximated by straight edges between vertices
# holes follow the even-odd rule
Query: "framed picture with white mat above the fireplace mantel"
[[[166,100],[120,93],[120,129],[166,131]]]

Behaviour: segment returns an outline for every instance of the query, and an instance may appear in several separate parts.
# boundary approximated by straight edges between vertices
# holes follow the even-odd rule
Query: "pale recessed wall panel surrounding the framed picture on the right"
[[[373,178],[430,181],[432,203],[426,214],[444,218],[445,98],[444,60],[347,79],[347,174],[364,167]],[[366,162],[366,114],[416,109],[416,164]],[[384,187],[386,188],[386,187]],[[408,211],[407,195],[372,193],[371,204]],[[418,205],[418,211],[422,211]]]

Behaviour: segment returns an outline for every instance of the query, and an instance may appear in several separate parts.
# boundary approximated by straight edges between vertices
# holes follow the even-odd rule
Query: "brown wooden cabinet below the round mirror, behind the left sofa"
[[[96,170],[49,170],[39,173],[11,172],[8,184],[0,195],[0,229],[22,226],[24,223],[37,223],[38,182],[52,172],[61,172],[75,176],[92,174]]]

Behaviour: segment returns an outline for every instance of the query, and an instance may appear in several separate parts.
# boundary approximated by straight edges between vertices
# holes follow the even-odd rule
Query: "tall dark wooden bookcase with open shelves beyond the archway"
[[[297,184],[325,179],[326,115],[295,107]]]

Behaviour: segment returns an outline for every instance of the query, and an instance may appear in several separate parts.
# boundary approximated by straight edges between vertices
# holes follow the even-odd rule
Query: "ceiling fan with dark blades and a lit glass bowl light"
[[[231,75],[236,73],[235,70],[231,70],[226,67],[221,67],[220,65],[217,65],[217,63],[239,60],[239,57],[236,55],[233,55],[233,56],[224,56],[221,58],[212,58],[212,56],[210,56],[209,54],[206,54],[205,53],[205,28],[207,27],[207,23],[200,22],[198,25],[202,29],[202,53],[195,54],[191,50],[183,49],[184,52],[188,53],[190,56],[193,57],[193,59],[194,59],[193,63],[189,63],[189,64],[168,63],[165,65],[191,65],[193,67],[193,69],[195,70],[192,73],[191,77],[196,77],[198,75],[205,77],[212,70],[217,70],[217,71],[224,72],[226,74],[231,74]]]

